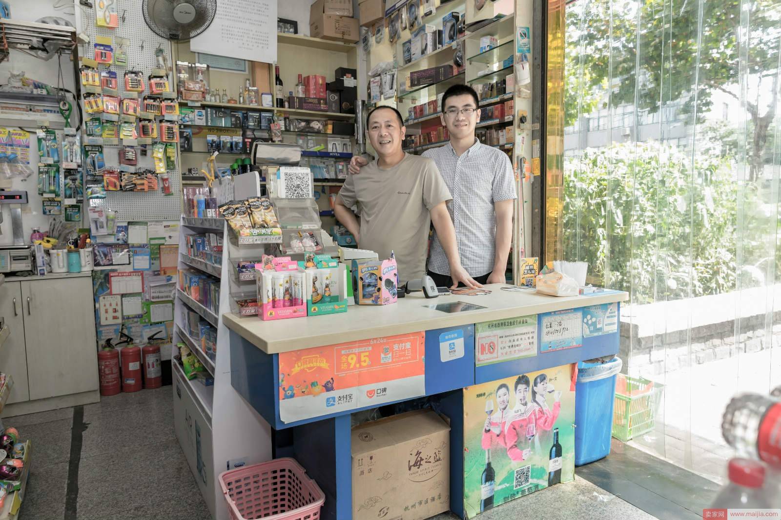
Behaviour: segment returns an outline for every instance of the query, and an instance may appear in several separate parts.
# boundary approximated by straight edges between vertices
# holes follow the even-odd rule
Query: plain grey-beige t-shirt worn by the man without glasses
[[[370,162],[344,181],[339,196],[350,208],[361,208],[358,247],[376,251],[380,259],[391,250],[402,282],[426,274],[430,209],[451,200],[437,166],[430,158],[405,154],[393,168]]]

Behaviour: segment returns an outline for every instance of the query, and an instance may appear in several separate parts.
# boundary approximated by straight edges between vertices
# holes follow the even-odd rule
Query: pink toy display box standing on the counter
[[[305,317],[305,272],[289,256],[274,258],[271,267],[263,269],[262,264],[255,264],[260,319]]]

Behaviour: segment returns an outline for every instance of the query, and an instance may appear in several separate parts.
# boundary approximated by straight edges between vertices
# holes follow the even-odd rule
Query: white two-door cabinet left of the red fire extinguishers
[[[3,416],[100,401],[93,302],[90,273],[5,279],[0,371],[13,386]]]

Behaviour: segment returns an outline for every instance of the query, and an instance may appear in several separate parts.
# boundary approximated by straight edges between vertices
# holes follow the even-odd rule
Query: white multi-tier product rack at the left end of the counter
[[[231,182],[215,183],[210,194],[232,198],[232,189],[218,193]],[[268,425],[230,384],[230,337],[222,319],[235,308],[234,298],[242,290],[234,258],[261,258],[268,246],[237,244],[223,217],[193,216],[188,209],[192,199],[184,200],[171,347],[174,424],[209,511],[222,520],[228,517],[219,473],[271,458]],[[224,442],[229,438],[230,443]]]

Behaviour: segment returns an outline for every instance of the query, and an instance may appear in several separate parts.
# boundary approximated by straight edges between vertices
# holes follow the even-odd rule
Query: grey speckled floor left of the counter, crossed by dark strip
[[[68,511],[73,408],[3,419],[33,446],[21,520],[211,518],[173,433],[170,386],[104,397],[83,414]]]

